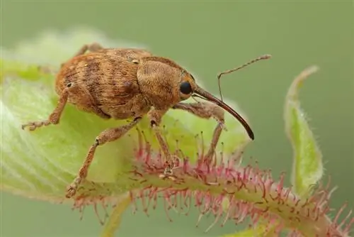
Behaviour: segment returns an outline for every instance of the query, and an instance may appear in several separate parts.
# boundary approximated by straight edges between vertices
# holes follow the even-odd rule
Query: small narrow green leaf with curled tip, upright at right
[[[321,151],[298,99],[299,87],[316,70],[317,67],[309,67],[295,78],[285,102],[285,130],[294,150],[292,185],[295,192],[303,197],[323,175]]]

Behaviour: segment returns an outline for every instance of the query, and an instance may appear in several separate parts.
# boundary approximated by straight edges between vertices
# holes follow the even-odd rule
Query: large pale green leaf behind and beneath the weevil
[[[64,198],[67,185],[74,179],[96,136],[105,128],[127,123],[105,121],[67,104],[58,125],[32,132],[21,129],[23,123],[46,119],[57,104],[55,75],[42,72],[39,67],[57,70],[60,63],[72,57],[82,45],[92,42],[108,47],[141,47],[109,40],[95,31],[76,29],[66,34],[43,33],[40,38],[21,43],[16,49],[1,49],[1,189],[26,197]],[[228,114],[225,119],[228,131],[222,133],[217,149],[231,153],[238,145],[249,143],[249,138],[236,119]],[[203,131],[207,148],[216,124],[212,119],[176,110],[164,116],[161,127],[170,149],[180,148],[193,160],[200,142],[195,136]],[[147,118],[137,128],[144,132],[152,148],[159,149]],[[130,161],[136,147],[137,131],[132,129],[119,140],[96,150],[87,180],[96,182],[97,192],[104,190],[103,184],[115,185],[116,189],[110,190],[117,195],[131,188],[129,182],[119,185],[118,182],[131,170]]]

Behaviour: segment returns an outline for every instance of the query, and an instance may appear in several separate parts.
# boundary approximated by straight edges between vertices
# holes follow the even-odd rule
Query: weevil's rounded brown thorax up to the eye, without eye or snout
[[[137,70],[139,89],[156,109],[169,109],[188,99],[191,93],[181,93],[181,83],[194,79],[176,62],[165,57],[144,57]]]

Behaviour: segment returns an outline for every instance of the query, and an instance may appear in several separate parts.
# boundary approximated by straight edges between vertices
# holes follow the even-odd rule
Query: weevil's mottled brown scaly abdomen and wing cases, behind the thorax
[[[140,92],[138,65],[131,60],[103,53],[79,55],[63,65],[56,79],[61,95],[72,84],[68,101],[101,118],[142,116],[149,102]]]

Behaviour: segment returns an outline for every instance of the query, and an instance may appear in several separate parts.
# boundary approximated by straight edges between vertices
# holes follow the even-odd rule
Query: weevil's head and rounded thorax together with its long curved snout
[[[192,96],[210,101],[232,114],[244,126],[249,137],[254,135],[249,124],[234,109],[198,86],[193,75],[166,57],[144,57],[137,71],[139,89],[156,109],[169,109]]]

